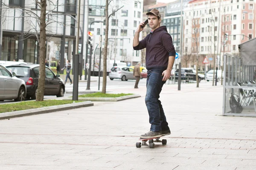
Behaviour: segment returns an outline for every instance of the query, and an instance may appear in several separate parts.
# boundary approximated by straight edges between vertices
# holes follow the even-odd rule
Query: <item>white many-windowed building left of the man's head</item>
[[[105,0],[90,0],[89,27],[96,20],[105,20]],[[122,8],[121,8],[122,7]],[[120,8],[120,9],[119,9]],[[109,14],[119,9],[109,19],[108,55],[107,59],[120,60],[128,65],[140,62],[141,54],[133,50],[134,33],[143,19],[143,1],[113,0],[109,4]],[[91,31],[96,35],[94,51],[99,58],[99,46],[96,48],[99,36],[102,35],[102,51],[105,40],[105,23],[93,23]],[[96,49],[95,49],[96,48]]]

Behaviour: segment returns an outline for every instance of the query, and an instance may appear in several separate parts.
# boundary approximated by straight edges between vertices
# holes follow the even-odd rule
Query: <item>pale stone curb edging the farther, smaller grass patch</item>
[[[79,97],[78,100],[82,101],[93,101],[93,102],[119,102],[126,99],[134,99],[137,97],[141,97],[139,94],[133,94],[128,96],[122,96],[122,97]],[[70,99],[63,99],[63,100],[72,100]]]

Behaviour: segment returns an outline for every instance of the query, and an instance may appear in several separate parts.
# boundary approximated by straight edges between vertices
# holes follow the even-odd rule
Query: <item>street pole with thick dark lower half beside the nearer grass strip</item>
[[[79,0],[78,4],[78,23],[77,23],[77,33],[76,33],[76,55],[74,58],[74,79],[73,79],[73,100],[78,100],[78,81],[79,81],[79,53],[78,53],[78,45],[79,45],[79,28],[80,28],[80,6],[81,0]]]

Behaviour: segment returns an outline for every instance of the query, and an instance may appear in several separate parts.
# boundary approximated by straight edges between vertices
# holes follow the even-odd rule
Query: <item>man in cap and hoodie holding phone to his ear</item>
[[[139,34],[144,28],[141,27],[144,22],[141,22],[135,31],[133,40],[134,50],[146,48],[148,78],[145,103],[148,109],[151,128],[149,132],[140,136],[143,139],[171,134],[159,95],[164,83],[170,78],[176,54],[172,37],[167,32],[166,26],[160,26],[160,12],[157,9],[152,9],[147,15],[148,24],[152,31],[145,39],[139,41]]]

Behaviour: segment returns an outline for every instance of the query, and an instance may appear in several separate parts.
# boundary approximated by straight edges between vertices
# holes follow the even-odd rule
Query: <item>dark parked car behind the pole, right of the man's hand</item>
[[[179,68],[175,71],[175,80],[179,77]],[[194,80],[196,81],[196,73],[193,72],[193,68],[181,68],[182,80]],[[198,81],[201,82],[202,78],[198,74]]]

